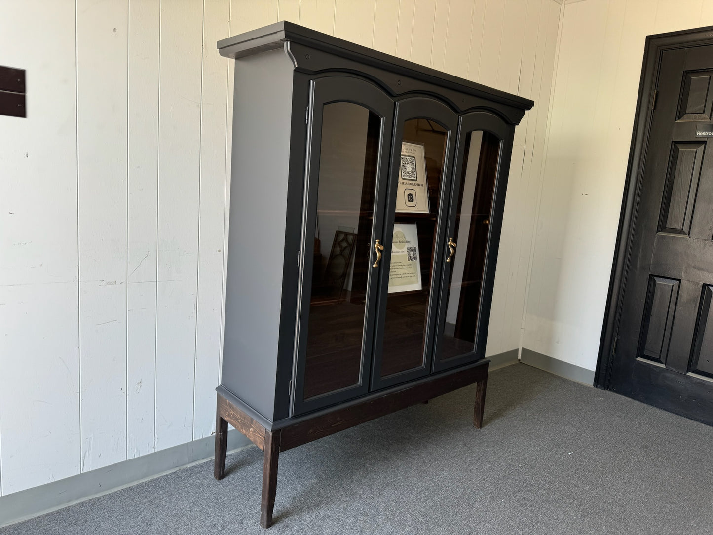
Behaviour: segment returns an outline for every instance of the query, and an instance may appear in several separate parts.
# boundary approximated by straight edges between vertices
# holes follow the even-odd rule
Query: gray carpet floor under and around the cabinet
[[[280,454],[277,534],[710,534],[713,428],[523,364]],[[0,529],[263,534],[262,452]]]

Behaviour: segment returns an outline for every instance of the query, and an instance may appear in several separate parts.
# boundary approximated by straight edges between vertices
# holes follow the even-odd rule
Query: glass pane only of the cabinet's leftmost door
[[[361,377],[380,132],[363,106],[323,108],[304,399]]]

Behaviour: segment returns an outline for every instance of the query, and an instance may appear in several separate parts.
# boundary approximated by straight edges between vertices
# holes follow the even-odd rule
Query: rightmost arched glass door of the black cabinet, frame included
[[[506,123],[486,112],[463,117],[458,138],[458,163],[453,179],[448,221],[447,257],[439,308],[435,370],[478,360],[485,353],[488,313],[495,275],[500,220],[493,204],[503,203],[505,180],[496,192],[498,173],[507,173],[504,156]],[[509,155],[508,147],[508,155]],[[505,176],[505,178],[507,178]],[[502,208],[502,206],[501,206]],[[490,243],[491,258],[486,258]],[[490,267],[490,269],[488,269]],[[488,288],[489,292],[484,290]],[[477,342],[477,344],[476,344]]]

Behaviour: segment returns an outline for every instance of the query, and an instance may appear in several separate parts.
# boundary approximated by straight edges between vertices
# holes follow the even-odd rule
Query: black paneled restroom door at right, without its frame
[[[713,424],[713,46],[660,58],[609,387]]]

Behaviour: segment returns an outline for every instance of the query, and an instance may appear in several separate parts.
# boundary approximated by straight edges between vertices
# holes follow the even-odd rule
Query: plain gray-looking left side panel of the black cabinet
[[[275,408],[292,73],[282,49],[235,61],[221,382],[267,419]]]

